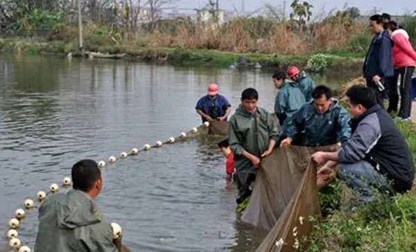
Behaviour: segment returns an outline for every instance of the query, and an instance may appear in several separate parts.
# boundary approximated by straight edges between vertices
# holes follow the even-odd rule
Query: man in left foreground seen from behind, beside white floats
[[[121,239],[113,240],[112,226],[93,202],[103,187],[97,163],[79,161],[71,176],[73,189],[49,196],[39,208],[35,252],[119,251]]]

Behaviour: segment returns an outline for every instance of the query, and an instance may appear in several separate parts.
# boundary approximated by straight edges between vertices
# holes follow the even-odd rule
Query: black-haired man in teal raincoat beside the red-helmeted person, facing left
[[[286,79],[286,73],[279,72],[273,75],[275,87],[279,90],[275,99],[275,114],[283,127],[282,136],[286,136],[285,129],[290,126],[293,114],[306,103],[299,85]]]

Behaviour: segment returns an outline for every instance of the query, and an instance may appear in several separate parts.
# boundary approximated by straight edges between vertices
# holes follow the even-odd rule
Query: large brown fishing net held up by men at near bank
[[[329,147],[284,147],[264,159],[250,203],[241,217],[270,230],[257,251],[298,251],[302,238],[320,220],[317,167],[311,154]]]

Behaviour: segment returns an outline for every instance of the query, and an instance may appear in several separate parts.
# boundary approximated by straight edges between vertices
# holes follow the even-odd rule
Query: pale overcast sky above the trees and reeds
[[[227,10],[234,10],[235,6],[237,10],[241,10],[242,1],[245,1],[245,11],[252,12],[261,8],[266,3],[272,3],[273,5],[283,5],[283,0],[219,0],[220,8],[225,8]],[[302,2],[303,0],[300,0]],[[177,7],[181,8],[200,8],[205,6],[208,0],[182,0],[180,3],[176,4]],[[290,6],[292,0],[287,0],[286,5]],[[338,1],[338,0],[309,0],[314,6],[314,12],[320,12],[322,8],[329,11],[334,8],[343,8],[345,4],[349,7],[358,7],[361,10],[362,14],[367,14],[376,7],[382,12],[388,12],[392,15],[401,15],[405,12],[410,12],[416,10],[416,0],[379,0],[379,1],[370,1],[370,0],[348,0],[348,1]],[[289,7],[288,7],[289,8]]]

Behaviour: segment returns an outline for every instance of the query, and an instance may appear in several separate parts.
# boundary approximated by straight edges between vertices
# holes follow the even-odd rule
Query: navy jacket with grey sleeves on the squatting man
[[[352,137],[343,143],[338,161],[366,160],[392,181],[396,192],[410,190],[415,173],[412,153],[387,112],[376,105],[351,122]]]

